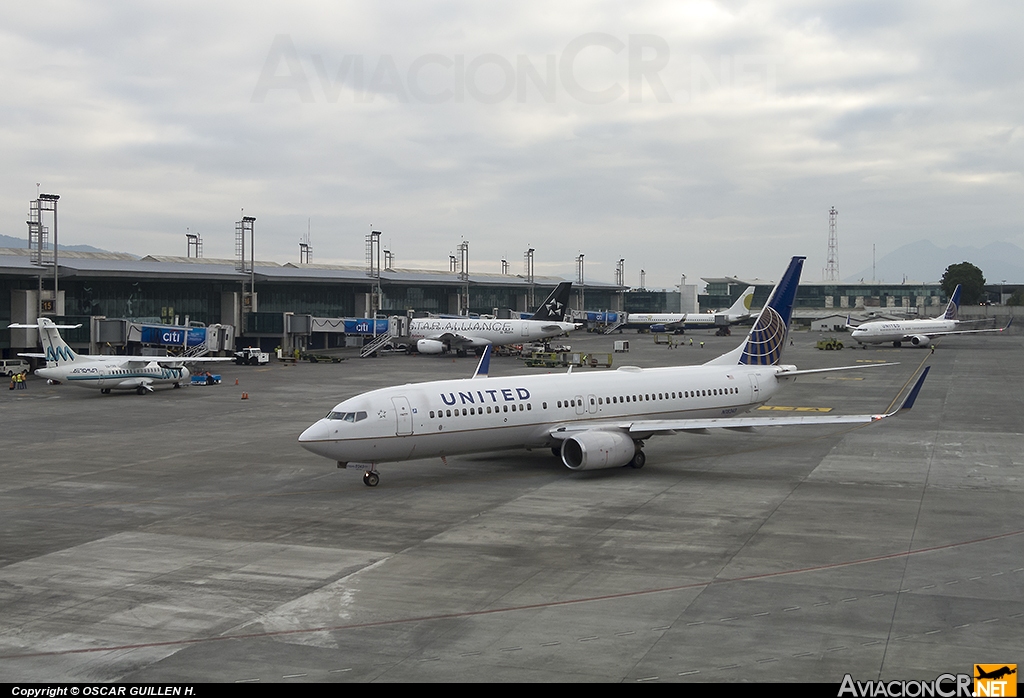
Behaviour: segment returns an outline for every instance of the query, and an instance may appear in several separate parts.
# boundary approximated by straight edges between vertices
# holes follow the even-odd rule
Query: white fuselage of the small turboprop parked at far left
[[[146,385],[188,383],[188,369],[184,366],[162,366],[156,362],[137,359],[108,359],[79,355],[70,363],[37,368],[36,376],[57,383],[96,388],[99,390],[137,390]]]

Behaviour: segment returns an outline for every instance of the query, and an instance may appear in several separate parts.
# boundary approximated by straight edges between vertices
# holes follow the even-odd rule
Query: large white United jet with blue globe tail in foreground
[[[657,434],[756,426],[862,424],[909,409],[928,368],[894,411],[881,415],[741,417],[797,376],[867,366],[798,370],[780,363],[804,258],[794,257],[742,344],[703,365],[486,378],[489,350],[472,379],[373,390],[341,402],[299,443],[338,462],[378,463],[504,448],[551,448],[571,470],[641,468]],[[486,379],[486,380],[482,380]]]

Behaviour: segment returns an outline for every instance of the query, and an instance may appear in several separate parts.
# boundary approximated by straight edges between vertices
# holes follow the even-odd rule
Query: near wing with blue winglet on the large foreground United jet
[[[658,434],[676,434],[679,432],[702,432],[709,429],[750,429],[752,427],[787,427],[806,425],[830,425],[830,424],[870,424],[881,422],[890,417],[895,417],[905,409],[913,407],[918,393],[928,378],[931,366],[926,366],[921,378],[913,388],[907,393],[899,407],[879,415],[793,415],[787,413],[778,417],[717,417],[695,420],[636,420],[609,422],[600,426],[591,425],[565,425],[558,427],[551,432],[551,436],[556,439],[565,439],[574,433],[589,430],[624,431],[634,438],[647,438]]]

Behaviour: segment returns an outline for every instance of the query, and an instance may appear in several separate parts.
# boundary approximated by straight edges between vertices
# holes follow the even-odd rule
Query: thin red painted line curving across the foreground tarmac
[[[637,590],[634,592],[622,592],[620,594],[605,594],[597,597],[585,597],[583,599],[566,599],[565,601],[548,601],[539,604],[526,604],[523,606],[507,606],[505,608],[492,608],[481,611],[459,611],[455,613],[438,613],[436,615],[425,615],[425,616],[414,616],[410,618],[394,618],[391,620],[374,620],[365,623],[350,623],[346,625],[321,625],[317,627],[302,627],[295,628],[291,630],[266,630],[263,632],[240,632],[233,635],[223,635],[214,636],[209,638],[191,638],[185,640],[167,640],[163,642],[154,643],[136,643],[132,645],[113,645],[109,647],[85,647],[75,650],[53,650],[51,652],[30,652],[26,654],[4,654],[0,655],[0,659],[27,659],[32,657],[54,657],[71,654],[89,654],[95,652],[117,652],[123,650],[138,650],[152,647],[181,647],[188,645],[200,645],[203,643],[214,643],[214,642],[224,642],[230,640],[253,640],[257,638],[282,638],[290,635],[307,635],[310,632],[330,632],[336,630],[353,630],[364,627],[381,627],[385,625],[398,625],[402,623],[420,623],[430,620],[449,620],[453,618],[472,618],[474,616],[484,616],[494,615],[496,613],[510,613],[513,611],[530,611],[542,608],[556,608],[558,606],[570,606],[574,604],[588,604],[596,601],[610,601],[613,599],[628,599],[631,597],[648,596],[651,594],[667,594],[670,592],[681,592],[688,588],[700,588],[702,586],[711,586],[712,584],[728,584],[737,581],[756,581],[758,579],[768,579],[772,577],[780,577],[788,574],[803,574],[806,572],[818,572],[827,569],[837,569],[839,567],[851,567],[853,565],[864,565],[872,562],[881,562],[883,560],[895,560],[898,558],[906,558],[912,555],[923,555],[925,553],[935,553],[936,551],[945,551],[953,548],[962,548],[964,546],[973,546],[980,542],[987,542],[989,540],[998,540],[1000,538],[1009,538],[1015,535],[1024,534],[1024,529],[1018,531],[1010,531],[1009,533],[997,533],[995,535],[987,535],[981,538],[974,538],[972,540],[961,540],[958,542],[945,543],[943,546],[932,546],[931,548],[922,548],[915,551],[905,551],[902,553],[889,553],[887,555],[877,555],[870,558],[861,558],[859,560],[848,560],[845,562],[833,562],[825,565],[814,565],[811,567],[801,567],[791,570],[779,570],[776,572],[763,572],[761,574],[749,574],[742,577],[728,577],[723,579],[712,579],[711,581],[694,581],[689,584],[678,584],[675,586],[662,586],[659,588],[647,588],[647,590]]]

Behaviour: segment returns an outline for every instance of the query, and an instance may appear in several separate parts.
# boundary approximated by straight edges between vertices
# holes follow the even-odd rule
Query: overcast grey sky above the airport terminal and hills
[[[0,232],[135,254],[679,283],[1024,247],[1024,3],[37,2],[0,9]]]

